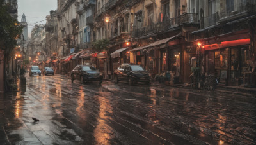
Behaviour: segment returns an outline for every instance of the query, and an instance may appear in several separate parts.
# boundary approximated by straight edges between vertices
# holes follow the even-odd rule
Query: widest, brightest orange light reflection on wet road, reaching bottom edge
[[[111,144],[110,140],[114,137],[113,130],[109,125],[106,123],[108,120],[108,116],[110,113],[113,113],[113,108],[109,105],[111,104],[106,97],[106,92],[100,92],[98,95],[99,99],[99,118],[97,119],[98,125],[94,130],[94,137],[96,144]]]

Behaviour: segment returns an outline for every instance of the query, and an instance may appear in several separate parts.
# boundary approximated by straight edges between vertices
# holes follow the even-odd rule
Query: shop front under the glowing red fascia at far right
[[[251,39],[236,39],[204,45],[205,72],[214,74],[220,85],[244,86],[255,62],[250,60]]]

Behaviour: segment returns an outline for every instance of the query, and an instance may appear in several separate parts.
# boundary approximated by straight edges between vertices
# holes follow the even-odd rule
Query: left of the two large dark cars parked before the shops
[[[103,76],[102,73],[97,71],[95,67],[90,65],[78,65],[71,71],[71,81],[77,79],[81,83],[85,81],[99,81],[102,83]]]

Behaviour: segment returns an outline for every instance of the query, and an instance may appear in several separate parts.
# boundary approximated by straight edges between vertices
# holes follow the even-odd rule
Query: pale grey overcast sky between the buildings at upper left
[[[18,0],[18,20],[21,21],[23,13],[28,23],[28,37],[31,38],[31,30],[36,24],[45,24],[45,17],[51,10],[57,10],[57,0]]]

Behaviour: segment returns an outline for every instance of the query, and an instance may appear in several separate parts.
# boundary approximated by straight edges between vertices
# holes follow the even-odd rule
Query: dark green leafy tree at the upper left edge
[[[0,49],[8,57],[17,46],[17,39],[22,34],[22,26],[8,13],[8,7],[0,0]]]

